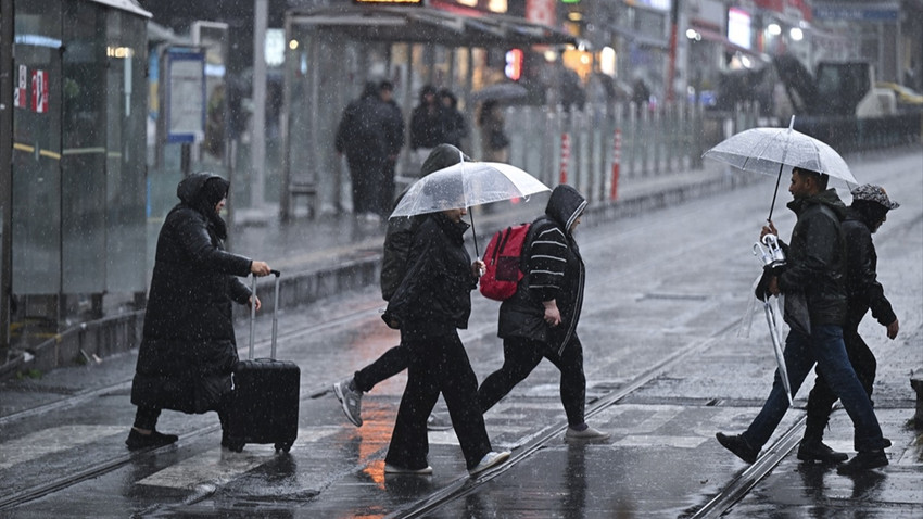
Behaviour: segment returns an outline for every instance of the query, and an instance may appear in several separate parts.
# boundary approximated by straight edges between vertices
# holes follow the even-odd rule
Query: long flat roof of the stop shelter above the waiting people
[[[339,5],[290,10],[287,20],[293,26],[336,30],[362,41],[446,47],[577,45],[577,38],[570,34],[520,17],[468,16],[428,7]]]

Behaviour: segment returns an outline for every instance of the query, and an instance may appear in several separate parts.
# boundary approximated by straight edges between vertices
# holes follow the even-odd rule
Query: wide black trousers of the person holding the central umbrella
[[[384,461],[408,469],[429,465],[427,417],[442,393],[465,464],[473,468],[491,452],[484,417],[478,407],[475,376],[458,333],[426,338],[402,338],[408,349],[407,385],[397,408],[394,432]]]

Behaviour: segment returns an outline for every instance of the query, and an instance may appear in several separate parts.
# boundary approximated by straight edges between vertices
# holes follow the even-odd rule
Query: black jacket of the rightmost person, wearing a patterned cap
[[[846,238],[846,327],[857,328],[862,317],[872,309],[882,326],[888,326],[897,319],[890,302],[885,298],[882,283],[877,280],[878,255],[872,243],[873,224],[849,211],[843,221],[843,235]]]

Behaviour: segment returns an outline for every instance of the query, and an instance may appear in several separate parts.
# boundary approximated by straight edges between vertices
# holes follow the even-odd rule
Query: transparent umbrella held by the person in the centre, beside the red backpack
[[[528,198],[547,186],[522,169],[500,162],[460,162],[417,180],[394,207],[391,217],[473,207],[503,200]],[[475,231],[471,218],[471,230]],[[478,237],[475,232],[475,253]]]

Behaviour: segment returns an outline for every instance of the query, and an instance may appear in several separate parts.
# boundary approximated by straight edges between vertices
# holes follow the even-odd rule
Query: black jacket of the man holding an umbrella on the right
[[[783,243],[787,260],[779,277],[785,294],[785,321],[794,329],[810,331],[811,325],[839,325],[846,318],[846,243],[840,220],[846,206],[827,189],[788,203],[798,221],[792,242]],[[805,306],[808,322],[804,322]],[[805,328],[807,325],[807,329]]]

